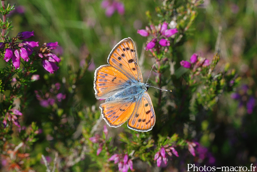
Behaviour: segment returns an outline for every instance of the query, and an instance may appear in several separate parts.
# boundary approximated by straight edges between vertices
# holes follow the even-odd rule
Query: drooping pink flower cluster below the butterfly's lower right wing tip
[[[155,153],[154,161],[156,161],[158,167],[160,167],[162,161],[165,165],[167,165],[168,157],[171,158],[172,154],[178,157],[178,152],[174,149],[174,147],[169,145],[165,145],[164,147],[162,146],[160,150]]]

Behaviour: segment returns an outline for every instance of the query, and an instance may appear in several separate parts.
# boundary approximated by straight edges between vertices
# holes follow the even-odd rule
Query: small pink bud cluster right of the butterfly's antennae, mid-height
[[[206,67],[210,65],[210,60],[205,58],[199,58],[198,54],[194,53],[190,57],[190,62],[182,60],[180,61],[180,65],[183,66],[184,68],[196,68],[201,66]]]

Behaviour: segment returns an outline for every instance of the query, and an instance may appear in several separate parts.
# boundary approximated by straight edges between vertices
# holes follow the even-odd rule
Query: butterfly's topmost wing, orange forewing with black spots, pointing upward
[[[107,62],[128,78],[142,82],[142,73],[137,64],[137,52],[134,41],[128,37],[121,40],[111,51]]]

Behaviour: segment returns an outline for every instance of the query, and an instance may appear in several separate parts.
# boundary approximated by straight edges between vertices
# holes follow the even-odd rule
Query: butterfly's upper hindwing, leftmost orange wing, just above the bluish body
[[[129,79],[110,65],[102,65],[95,71],[94,89],[97,99],[107,99],[128,84]]]

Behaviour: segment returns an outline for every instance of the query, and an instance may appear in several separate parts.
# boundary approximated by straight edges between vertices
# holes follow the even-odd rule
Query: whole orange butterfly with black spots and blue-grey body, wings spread
[[[142,82],[134,41],[130,37],[121,40],[107,62],[96,69],[94,80],[95,97],[105,99],[99,107],[103,119],[110,127],[128,120],[128,128],[150,131],[155,124],[154,108],[146,92],[150,84]]]

